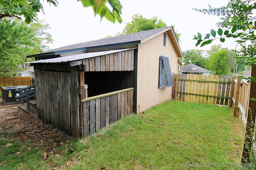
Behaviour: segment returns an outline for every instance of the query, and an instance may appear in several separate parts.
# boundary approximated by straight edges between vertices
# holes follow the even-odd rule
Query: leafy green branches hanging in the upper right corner
[[[204,14],[223,16],[222,22],[218,23],[217,31],[212,29],[204,36],[201,33],[194,35],[197,41],[196,46],[201,44],[202,47],[215,39],[225,42],[226,38],[235,38],[241,47],[234,51],[240,61],[244,61],[246,65],[256,64],[256,35],[254,34],[256,21],[253,22],[255,17],[252,17],[255,9],[256,2],[253,0],[230,0],[227,6],[221,8],[212,8],[210,5],[208,9],[194,8]]]

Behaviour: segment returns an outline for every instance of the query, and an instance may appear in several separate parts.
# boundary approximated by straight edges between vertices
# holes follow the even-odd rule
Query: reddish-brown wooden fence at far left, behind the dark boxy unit
[[[31,86],[31,77],[6,77],[1,76],[0,77],[0,87],[6,87],[6,86],[22,86],[27,85]]]

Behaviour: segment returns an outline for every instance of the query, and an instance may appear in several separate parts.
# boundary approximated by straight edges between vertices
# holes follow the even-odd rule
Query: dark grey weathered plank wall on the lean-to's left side
[[[80,137],[78,74],[35,70],[38,118]]]

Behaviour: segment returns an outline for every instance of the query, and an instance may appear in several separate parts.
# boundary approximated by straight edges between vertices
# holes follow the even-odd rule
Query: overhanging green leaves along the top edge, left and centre
[[[122,5],[119,0],[78,0],[81,1],[84,7],[92,7],[94,16],[97,14],[100,16],[100,20],[105,17],[107,20],[115,23],[116,20],[122,23]],[[49,4],[57,6],[57,0],[47,0]],[[106,6],[108,3],[111,10]],[[0,0],[0,20],[5,17],[15,17],[22,19],[25,18],[26,23],[37,21],[37,12],[44,12],[44,8],[40,3],[40,0]]]

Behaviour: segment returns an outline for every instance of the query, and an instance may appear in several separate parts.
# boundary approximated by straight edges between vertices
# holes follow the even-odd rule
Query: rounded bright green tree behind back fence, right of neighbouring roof
[[[228,51],[221,49],[209,56],[208,69],[216,75],[226,75],[228,73]]]

